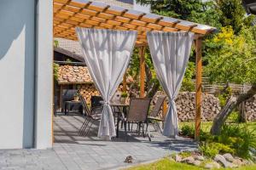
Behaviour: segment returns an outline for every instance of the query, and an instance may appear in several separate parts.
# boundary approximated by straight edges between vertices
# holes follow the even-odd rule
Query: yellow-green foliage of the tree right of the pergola
[[[224,27],[208,40],[212,48],[207,53],[205,76],[211,82],[256,82],[255,32],[255,26],[243,27],[236,36],[231,27]]]

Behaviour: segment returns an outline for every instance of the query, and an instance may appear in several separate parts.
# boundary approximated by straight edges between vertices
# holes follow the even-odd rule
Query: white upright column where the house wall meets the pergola
[[[53,1],[38,0],[35,89],[35,148],[52,146]]]

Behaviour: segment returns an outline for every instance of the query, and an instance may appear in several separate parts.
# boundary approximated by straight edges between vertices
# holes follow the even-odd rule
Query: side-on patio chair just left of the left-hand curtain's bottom
[[[79,99],[84,109],[84,123],[80,127],[79,134],[81,136],[87,136],[90,132],[90,127],[92,126],[92,124],[101,120],[102,106],[93,107],[90,110],[81,94],[79,94]]]

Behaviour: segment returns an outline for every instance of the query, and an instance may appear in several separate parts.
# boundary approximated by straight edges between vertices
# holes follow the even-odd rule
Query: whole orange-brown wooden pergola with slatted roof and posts
[[[186,20],[177,20],[157,14],[110,6],[86,0],[54,0],[54,37],[77,41],[75,27],[137,31],[136,46],[140,54],[140,95],[145,94],[145,48],[147,31],[191,31],[195,33],[196,96],[195,138],[201,124],[202,37],[216,29]],[[125,78],[124,78],[125,80]],[[125,82],[124,82],[125,85]]]

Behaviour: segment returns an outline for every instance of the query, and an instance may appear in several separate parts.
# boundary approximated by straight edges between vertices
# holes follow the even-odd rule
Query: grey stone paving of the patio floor
[[[0,169],[119,169],[125,167],[126,156],[132,156],[137,164],[152,161],[174,151],[195,150],[196,144],[189,139],[168,139],[152,131],[152,141],[136,133],[129,134],[125,142],[124,132],[119,139],[101,140],[96,137],[94,125],[88,137],[78,134],[82,116],[56,116],[54,119],[55,144],[49,150],[0,150]]]

